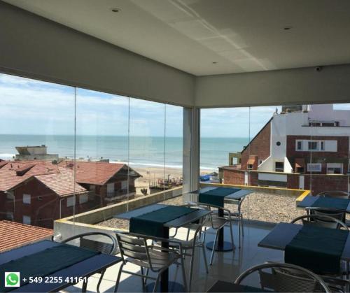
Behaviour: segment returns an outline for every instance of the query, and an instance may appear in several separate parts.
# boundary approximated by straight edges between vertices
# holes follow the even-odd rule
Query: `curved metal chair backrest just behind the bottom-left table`
[[[98,238],[98,241],[92,238]],[[103,241],[102,239],[106,241]],[[74,244],[77,244],[80,248],[96,250],[107,255],[116,255],[116,253],[118,252],[116,238],[114,238],[110,234],[106,234],[103,232],[88,232],[78,234],[64,239],[62,243],[69,243],[75,240],[78,241],[78,243],[76,242]]]

